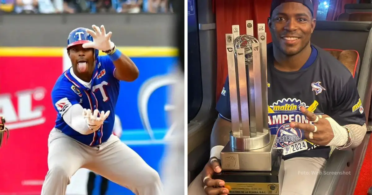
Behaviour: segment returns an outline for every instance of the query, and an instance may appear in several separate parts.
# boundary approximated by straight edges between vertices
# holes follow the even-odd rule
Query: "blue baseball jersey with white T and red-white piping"
[[[55,128],[76,139],[94,146],[107,141],[112,134],[115,121],[115,105],[119,95],[119,80],[114,76],[115,66],[108,56],[98,56],[97,65],[93,71],[91,87],[80,84],[66,70],[52,89],[52,102],[58,112]],[[74,104],[80,104],[90,110],[110,111],[101,128],[89,135],[83,135],[71,128],[63,120],[63,115]],[[83,113],[81,113],[83,114]]]

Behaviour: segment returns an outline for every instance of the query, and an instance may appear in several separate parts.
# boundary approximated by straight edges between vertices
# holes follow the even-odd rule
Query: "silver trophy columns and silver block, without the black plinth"
[[[276,160],[276,135],[268,127],[264,29],[265,24],[258,24],[255,38],[253,21],[246,21],[247,34],[240,35],[239,25],[226,34],[231,133],[221,151],[222,170],[270,172]]]

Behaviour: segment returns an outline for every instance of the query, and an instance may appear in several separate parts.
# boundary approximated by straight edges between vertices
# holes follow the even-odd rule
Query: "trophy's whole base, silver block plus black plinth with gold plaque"
[[[237,150],[228,143],[221,151],[222,172],[213,179],[224,180],[229,194],[279,195],[282,155],[275,144],[276,135],[270,135],[270,144],[257,150]]]

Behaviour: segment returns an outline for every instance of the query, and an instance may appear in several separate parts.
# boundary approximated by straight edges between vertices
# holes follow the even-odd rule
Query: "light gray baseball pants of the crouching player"
[[[159,174],[115,135],[90,147],[52,129],[48,150],[49,170],[41,195],[65,195],[71,176],[80,168],[92,170],[136,195],[163,193]]]

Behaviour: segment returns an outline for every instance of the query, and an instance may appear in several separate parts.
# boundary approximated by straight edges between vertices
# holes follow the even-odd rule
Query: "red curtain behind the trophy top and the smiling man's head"
[[[246,34],[246,20],[254,22],[254,36],[257,37],[257,23],[265,24],[267,43],[272,41],[267,18],[270,15],[272,0],[214,0],[217,31],[217,91],[216,100],[221,95],[227,71],[225,34],[232,33],[231,26],[239,25],[240,34]],[[318,10],[318,0],[314,1],[314,18]]]

